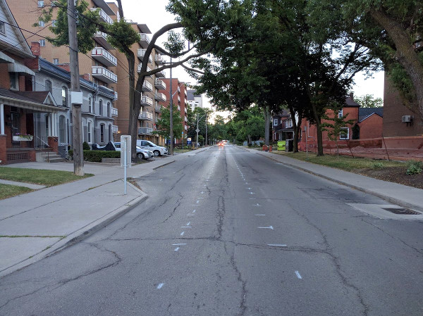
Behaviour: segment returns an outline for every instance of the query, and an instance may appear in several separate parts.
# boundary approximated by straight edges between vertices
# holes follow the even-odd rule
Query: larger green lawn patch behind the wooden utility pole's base
[[[87,174],[84,177],[80,177],[78,175],[74,175],[73,172],[70,171],[9,167],[0,168],[0,179],[41,184],[47,187],[52,187],[66,182],[73,182],[75,180],[91,176],[91,174]]]

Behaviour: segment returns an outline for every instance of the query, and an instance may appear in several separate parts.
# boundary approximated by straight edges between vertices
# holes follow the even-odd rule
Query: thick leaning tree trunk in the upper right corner
[[[369,11],[372,18],[384,27],[396,46],[396,58],[410,76],[416,94],[416,108],[423,118],[423,65],[410,42],[410,34],[395,18],[391,18],[382,9]]]

